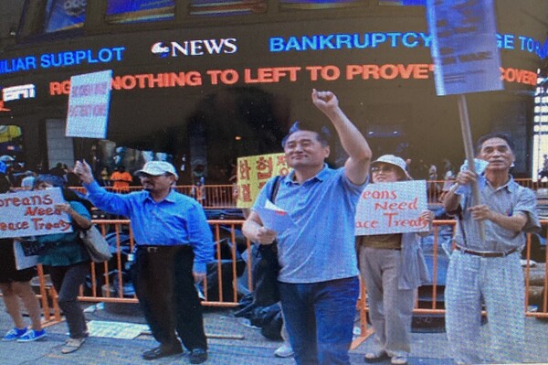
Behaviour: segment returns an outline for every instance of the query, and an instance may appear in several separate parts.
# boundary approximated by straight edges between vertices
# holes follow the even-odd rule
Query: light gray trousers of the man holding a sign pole
[[[483,258],[454,251],[445,290],[449,347],[458,364],[484,362],[479,356],[481,305],[489,318],[490,360],[522,362],[525,295],[520,253]]]

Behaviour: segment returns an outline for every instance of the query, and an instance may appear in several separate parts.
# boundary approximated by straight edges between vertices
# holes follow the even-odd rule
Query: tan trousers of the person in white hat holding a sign
[[[406,355],[411,352],[409,332],[416,290],[398,288],[402,252],[361,246],[358,253],[375,346],[390,356]]]

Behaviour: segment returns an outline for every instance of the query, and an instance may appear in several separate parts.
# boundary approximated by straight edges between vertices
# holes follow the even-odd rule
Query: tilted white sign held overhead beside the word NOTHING
[[[68,137],[106,138],[111,102],[112,70],[70,78]]]

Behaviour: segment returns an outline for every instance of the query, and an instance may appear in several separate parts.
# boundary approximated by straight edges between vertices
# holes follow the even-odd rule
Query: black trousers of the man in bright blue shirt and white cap
[[[207,349],[202,305],[195,288],[190,246],[138,247],[133,285],[153,337],[163,349]]]

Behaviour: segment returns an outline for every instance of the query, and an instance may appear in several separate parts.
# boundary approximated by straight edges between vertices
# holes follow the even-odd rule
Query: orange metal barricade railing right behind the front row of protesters
[[[123,288],[123,277],[122,277],[122,268],[125,264],[123,257],[123,252],[131,252],[133,249],[133,236],[132,230],[130,227],[130,220],[94,220],[95,224],[100,227],[100,230],[103,234],[110,231],[111,240],[116,242],[116,253],[109,263],[90,263],[90,287],[80,289],[79,300],[85,302],[104,302],[104,303],[137,303],[137,298],[135,295],[124,295]],[[223,247],[221,244],[216,244],[215,252],[215,263],[216,273],[213,273],[213,276],[210,274],[204,283],[204,296],[205,300],[202,302],[204,306],[216,306],[216,307],[236,307],[238,305],[237,298],[237,245],[240,244],[240,249],[245,245],[245,248],[250,252],[251,242],[239,237],[238,242],[237,236],[239,236],[239,231],[243,224],[243,220],[208,220],[212,231],[214,232],[214,239],[217,243],[225,240],[228,243],[228,253],[222,252]],[[546,231],[548,228],[548,220],[542,220],[543,231]],[[433,243],[432,243],[432,264],[431,264],[431,301],[427,306],[419,307],[418,302],[416,303],[416,308],[414,309],[415,314],[424,314],[424,315],[445,315],[445,308],[439,306],[439,300],[437,298],[438,288],[440,284],[438,282],[439,276],[439,258],[440,258],[440,242],[439,242],[439,231],[443,226],[455,226],[455,220],[435,220],[434,221],[434,232],[433,232]],[[223,231],[223,233],[222,233]],[[454,229],[452,229],[454,231]],[[452,236],[452,234],[451,234]],[[121,238],[125,238],[125,242],[121,242]],[[544,246],[543,253],[543,262],[533,263],[531,260],[533,250],[536,250],[532,246],[532,234],[527,235],[527,244],[523,251],[523,257],[526,258],[525,265],[523,268],[523,274],[525,278],[525,303],[526,311],[525,315],[528,317],[543,317],[548,318],[548,254]],[[536,236],[536,239],[541,237]],[[542,237],[543,240],[548,240],[546,233]],[[125,249],[122,249],[124,244]],[[224,250],[227,251],[227,250]],[[537,252],[538,253],[538,252]],[[223,257],[225,254],[225,257]],[[227,258],[228,256],[228,258]],[[252,284],[252,255],[248,255],[248,261],[246,263],[247,267],[247,284],[249,290],[253,290]],[[228,263],[228,264],[224,264]],[[540,273],[540,279],[537,277],[532,282],[532,272],[533,267],[535,267],[535,272]],[[211,266],[210,266],[211,267]],[[228,269],[227,269],[228,268]],[[540,269],[539,269],[540,268]],[[226,275],[226,271],[229,271]],[[540,271],[539,271],[540,270]],[[114,273],[114,274],[112,274]],[[55,289],[46,284],[44,280],[44,272],[41,267],[38,267],[38,276],[40,283],[40,294],[42,298],[42,304],[44,308],[44,318],[46,320],[46,325],[57,323],[60,320],[60,314],[57,304],[57,294]],[[230,283],[227,285],[225,282],[230,280]],[[211,293],[208,293],[208,284],[207,280],[216,280],[216,297],[213,298]],[[245,278],[244,278],[245,280]],[[116,283],[114,283],[116,282]],[[534,285],[533,285],[534,284]],[[227,286],[230,287],[229,292],[227,292]],[[538,290],[534,293],[534,299],[532,297],[532,287],[542,286],[542,293],[539,294]],[[115,290],[114,290],[115,288]],[[113,294],[115,293],[115,294]],[[358,346],[364,341],[365,338],[371,335],[371,328],[368,328],[366,322],[367,314],[367,303],[366,303],[366,287],[362,284],[361,295],[357,303],[357,309],[360,313],[360,333],[358,338],[353,341],[353,348]],[[52,307],[54,310],[54,315],[51,316],[49,313],[50,307],[47,304],[47,298],[52,301]],[[534,301],[534,303],[532,303]],[[533,306],[534,305],[534,306]]]

